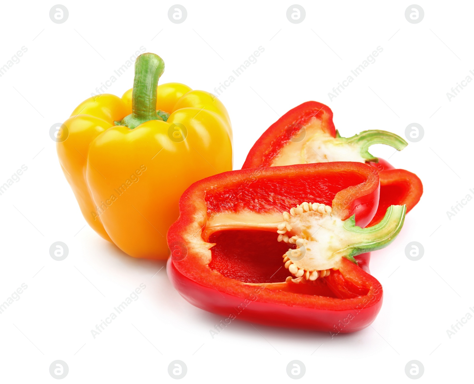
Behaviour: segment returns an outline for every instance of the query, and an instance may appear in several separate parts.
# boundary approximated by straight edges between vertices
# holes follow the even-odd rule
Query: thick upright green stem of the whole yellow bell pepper
[[[153,53],[144,53],[135,61],[135,79],[133,80],[132,113],[119,125],[130,129],[149,120],[163,120],[156,113],[156,86],[164,72],[163,59]]]

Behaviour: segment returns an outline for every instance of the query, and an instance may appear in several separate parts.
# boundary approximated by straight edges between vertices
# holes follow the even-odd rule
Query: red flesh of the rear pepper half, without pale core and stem
[[[321,120],[321,129],[324,132],[336,137],[332,110],[319,102],[307,101],[285,113],[262,134],[250,149],[242,169],[271,166],[273,158],[283,146],[295,134],[299,134],[300,128],[313,117]],[[381,185],[379,209],[369,226],[377,224],[392,204],[406,204],[409,212],[418,203],[423,193],[423,185],[416,174],[403,169],[394,169],[383,159],[379,159],[378,163],[367,162],[367,164],[379,171]]]

